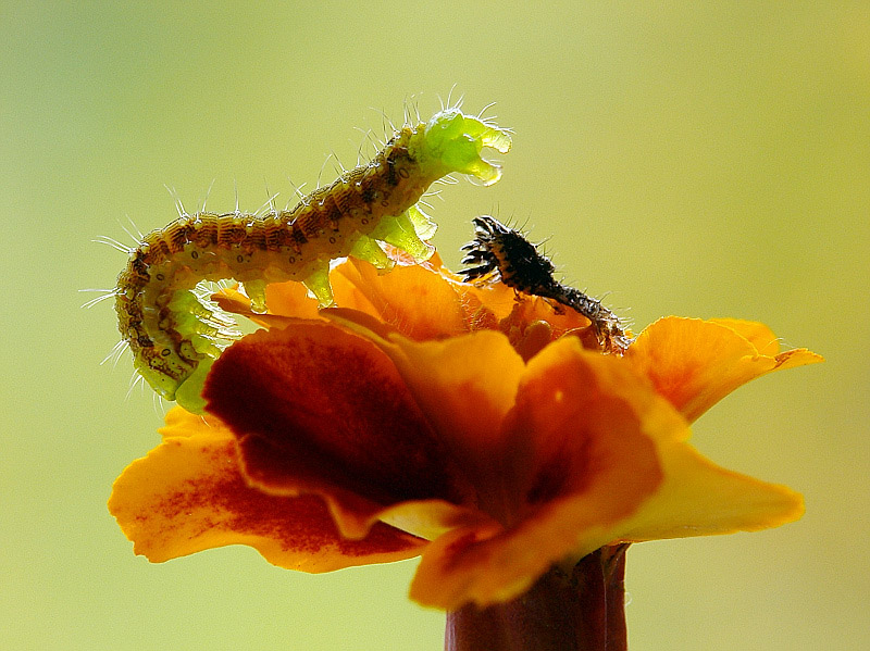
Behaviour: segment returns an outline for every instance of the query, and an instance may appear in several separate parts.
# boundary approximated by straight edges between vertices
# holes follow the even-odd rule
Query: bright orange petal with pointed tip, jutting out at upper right
[[[774,354],[774,341],[772,333],[760,324],[670,316],[641,333],[625,359],[694,422],[750,379],[822,361],[806,349]]]

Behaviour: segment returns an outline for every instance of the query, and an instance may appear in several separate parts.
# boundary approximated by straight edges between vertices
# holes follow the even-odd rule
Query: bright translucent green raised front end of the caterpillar
[[[421,168],[433,176],[470,174],[486,186],[501,178],[501,167],[484,161],[481,151],[484,147],[500,153],[510,151],[511,139],[506,129],[465,115],[459,109],[445,109],[425,124],[420,136],[412,154]]]

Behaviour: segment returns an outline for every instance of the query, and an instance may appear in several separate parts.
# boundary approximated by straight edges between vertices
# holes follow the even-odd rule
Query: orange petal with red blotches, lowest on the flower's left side
[[[173,434],[117,478],[109,510],[134,551],[152,562],[227,544],[256,548],[289,569],[328,572],[408,559],[425,541],[385,524],[363,540],[343,538],[316,496],[274,497],[247,485],[232,433],[176,408]]]

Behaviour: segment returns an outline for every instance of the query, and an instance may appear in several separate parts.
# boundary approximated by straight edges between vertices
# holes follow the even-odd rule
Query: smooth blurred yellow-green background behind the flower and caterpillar
[[[870,648],[867,540],[870,5],[856,2],[368,2],[0,5],[0,647],[435,650],[414,562],[308,576],[248,548],[163,565],[105,510],[161,408],[100,360],[129,242],[192,209],[313,189],[357,130],[383,135],[456,85],[515,130],[493,188],[447,187],[456,264],[471,216],[527,224],[564,277],[632,318],[762,321],[823,365],[705,415],[714,461],[806,493],[781,529],[635,546],[632,651]],[[369,152],[363,146],[363,152]],[[332,160],[323,180],[334,176]],[[609,293],[608,293],[609,292]]]

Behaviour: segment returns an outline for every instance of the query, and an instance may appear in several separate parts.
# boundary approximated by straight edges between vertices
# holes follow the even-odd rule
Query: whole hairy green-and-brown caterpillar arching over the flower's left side
[[[199,281],[234,278],[253,309],[264,311],[266,285],[298,280],[330,305],[330,261],[350,255],[387,270],[391,262],[378,241],[427,259],[433,249],[423,240],[435,224],[414,204],[448,174],[496,183],[500,168],[481,151],[505,153],[510,146],[508,132],[447,109],[403,127],[371,162],[291,211],[185,214],[149,233],[114,290],[119,329],[137,372],[166,400],[201,411],[202,383],[227,334],[191,291]]]

